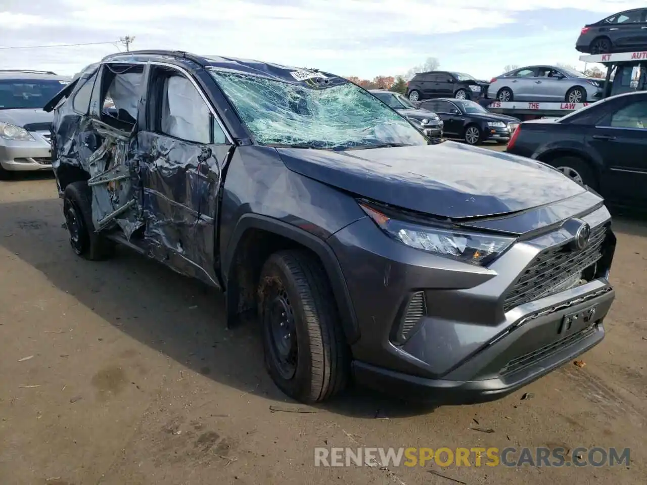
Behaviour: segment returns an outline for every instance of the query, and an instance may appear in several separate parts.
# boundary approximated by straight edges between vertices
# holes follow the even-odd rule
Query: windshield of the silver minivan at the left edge
[[[0,80],[0,109],[42,109],[67,85],[65,80]]]

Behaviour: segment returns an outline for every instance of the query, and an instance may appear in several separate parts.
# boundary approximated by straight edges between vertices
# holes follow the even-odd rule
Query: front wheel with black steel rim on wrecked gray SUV
[[[321,264],[301,251],[272,254],[261,271],[258,297],[265,365],[279,389],[304,403],[341,391],[348,350]]]

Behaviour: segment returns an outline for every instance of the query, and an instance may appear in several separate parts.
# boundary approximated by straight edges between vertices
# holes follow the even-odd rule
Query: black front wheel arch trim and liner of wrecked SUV
[[[256,288],[263,263],[270,254],[283,249],[301,249],[316,257],[327,274],[342,320],[347,343],[360,337],[359,325],[342,267],[330,246],[315,235],[287,222],[265,215],[247,213],[236,224],[223,256],[227,323],[256,310]]]

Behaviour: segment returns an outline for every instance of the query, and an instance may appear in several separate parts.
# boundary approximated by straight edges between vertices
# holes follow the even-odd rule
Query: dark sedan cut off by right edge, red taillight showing
[[[523,122],[507,151],[540,160],[613,202],[647,204],[647,92],[618,94],[556,120]]]

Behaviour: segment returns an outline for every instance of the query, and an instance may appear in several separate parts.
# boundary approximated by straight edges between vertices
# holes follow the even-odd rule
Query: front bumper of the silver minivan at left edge
[[[6,171],[52,169],[49,132],[30,132],[34,141],[0,140],[0,166]]]

